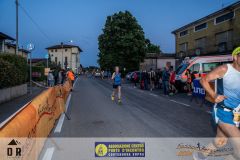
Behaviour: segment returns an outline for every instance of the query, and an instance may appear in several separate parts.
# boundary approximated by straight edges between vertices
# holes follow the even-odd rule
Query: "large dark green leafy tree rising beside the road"
[[[98,37],[98,63],[102,69],[114,66],[137,70],[146,53],[142,27],[129,11],[108,16],[103,33]]]

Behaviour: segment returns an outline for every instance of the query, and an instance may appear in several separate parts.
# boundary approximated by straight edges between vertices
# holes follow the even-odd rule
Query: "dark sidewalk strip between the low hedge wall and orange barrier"
[[[28,88],[29,90],[29,88]],[[44,88],[33,87],[32,94],[29,93],[21,97],[15,98],[11,101],[0,104],[0,124],[8,117],[18,111],[22,106],[31,101],[34,97],[40,94]]]

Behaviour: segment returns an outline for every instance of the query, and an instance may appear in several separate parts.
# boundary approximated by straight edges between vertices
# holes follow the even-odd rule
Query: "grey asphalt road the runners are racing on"
[[[124,84],[123,104],[108,81],[80,77],[57,137],[212,137],[211,116],[199,106]],[[63,120],[63,119],[62,119]],[[62,121],[60,118],[60,121]],[[59,129],[59,124],[58,124]]]

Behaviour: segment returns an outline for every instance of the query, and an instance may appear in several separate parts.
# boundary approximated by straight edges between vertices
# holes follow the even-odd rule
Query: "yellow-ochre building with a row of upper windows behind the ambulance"
[[[172,33],[177,58],[230,54],[240,45],[240,1]]]

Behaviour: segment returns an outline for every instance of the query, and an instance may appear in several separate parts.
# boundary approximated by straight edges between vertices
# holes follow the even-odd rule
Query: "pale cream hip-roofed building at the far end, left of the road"
[[[46,48],[50,56],[51,62],[61,66],[63,69],[72,69],[75,73],[80,67],[80,52],[79,46],[60,44]]]

